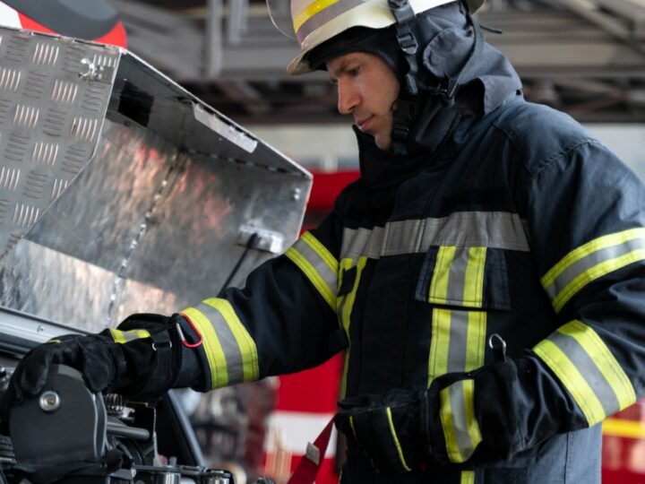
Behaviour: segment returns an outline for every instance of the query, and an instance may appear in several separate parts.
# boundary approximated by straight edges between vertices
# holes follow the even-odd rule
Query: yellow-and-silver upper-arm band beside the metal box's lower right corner
[[[318,290],[323,299],[336,311],[339,263],[310,232],[305,232],[285,252]]]

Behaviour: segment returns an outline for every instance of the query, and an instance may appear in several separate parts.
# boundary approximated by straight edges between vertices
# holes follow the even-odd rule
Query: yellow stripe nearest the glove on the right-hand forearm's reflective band
[[[564,354],[563,350],[560,350],[553,341],[549,340],[538,342],[538,345],[533,350],[553,370],[555,376],[560,379],[566,389],[569,390],[569,393],[572,394],[573,400],[578,403],[589,422],[589,427],[605,419],[605,410],[596,393],[591,389],[581,372],[578,371],[578,368]]]

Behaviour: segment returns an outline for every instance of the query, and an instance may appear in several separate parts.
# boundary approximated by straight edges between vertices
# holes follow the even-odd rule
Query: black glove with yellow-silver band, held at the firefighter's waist
[[[385,474],[416,471],[428,463],[505,458],[518,450],[517,385],[517,370],[509,360],[440,376],[427,391],[348,398],[339,402],[335,423]],[[495,402],[486,405],[490,411],[483,427],[477,402]]]

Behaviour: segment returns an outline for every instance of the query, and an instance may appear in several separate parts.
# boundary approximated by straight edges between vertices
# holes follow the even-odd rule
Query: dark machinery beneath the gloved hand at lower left
[[[0,370],[3,391],[11,373]],[[8,423],[13,437],[0,436],[2,483],[236,482],[231,472],[202,465],[172,394],[150,404],[91,393],[71,367],[54,367],[41,393],[15,407]]]

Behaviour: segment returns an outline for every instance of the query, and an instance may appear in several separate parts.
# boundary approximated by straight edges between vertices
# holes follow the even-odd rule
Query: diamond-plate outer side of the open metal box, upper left
[[[120,51],[0,32],[2,256],[90,161]]]

